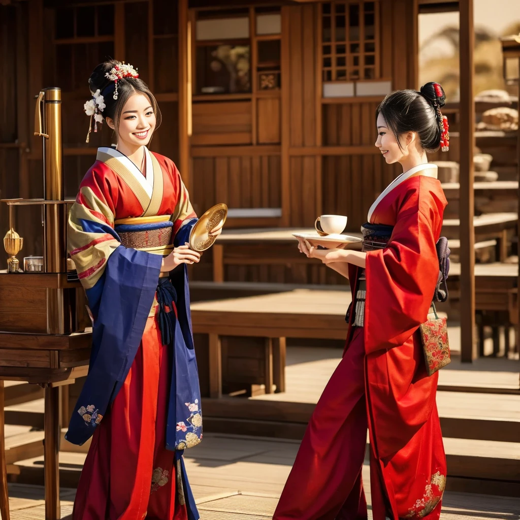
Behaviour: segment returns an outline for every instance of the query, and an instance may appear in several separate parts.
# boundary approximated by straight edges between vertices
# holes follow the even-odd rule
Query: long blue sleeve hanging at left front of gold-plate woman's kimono
[[[92,334],[87,379],[72,413],[66,438],[83,444],[124,383],[145,330],[159,280],[162,257],[119,246],[110,255]],[[95,286],[96,287],[96,286]],[[99,288],[96,288],[99,291]],[[81,407],[93,407],[80,414]]]

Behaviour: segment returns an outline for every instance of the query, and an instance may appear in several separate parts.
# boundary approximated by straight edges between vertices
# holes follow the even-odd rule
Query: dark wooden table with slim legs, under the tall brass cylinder
[[[92,343],[83,330],[84,291],[66,273],[4,274],[0,271],[0,515],[9,520],[4,441],[4,380],[43,386],[45,400],[45,517],[60,518],[58,452],[60,395],[86,375]],[[77,292],[76,292],[77,291]],[[81,327],[81,328],[80,328]]]

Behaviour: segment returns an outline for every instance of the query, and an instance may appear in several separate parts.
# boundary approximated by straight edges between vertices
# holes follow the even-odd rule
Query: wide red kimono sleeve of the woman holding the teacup
[[[418,189],[400,207],[385,249],[367,252],[367,354],[404,344],[427,319],[437,282],[444,207]]]

